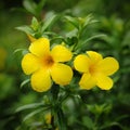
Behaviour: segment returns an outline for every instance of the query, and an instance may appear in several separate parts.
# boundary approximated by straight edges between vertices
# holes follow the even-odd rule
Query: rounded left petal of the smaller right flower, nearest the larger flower
[[[89,70],[90,60],[84,54],[79,54],[74,61],[76,70],[84,73]]]

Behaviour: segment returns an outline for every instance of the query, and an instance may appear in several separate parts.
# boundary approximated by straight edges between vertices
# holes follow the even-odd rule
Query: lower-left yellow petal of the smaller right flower
[[[95,84],[96,80],[90,74],[83,74],[79,81],[80,88],[86,90],[92,89]]]

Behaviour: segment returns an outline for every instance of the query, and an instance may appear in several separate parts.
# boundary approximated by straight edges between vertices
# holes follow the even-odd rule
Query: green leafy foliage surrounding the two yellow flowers
[[[29,22],[30,25],[21,27],[20,25],[25,21],[20,22],[20,18],[24,17],[28,23],[30,21],[28,15],[25,17],[15,14],[13,21],[10,21],[10,25],[8,25],[8,21],[11,20],[10,15],[14,16],[14,14],[1,13],[3,18],[0,22],[8,26],[2,26],[1,30],[3,31],[0,32],[0,42],[2,43],[0,49],[2,48],[6,55],[1,61],[2,67],[0,67],[0,109],[2,112],[0,129],[46,130],[57,129],[58,126],[60,130],[129,130],[130,22],[127,15],[118,17],[126,12],[122,8],[119,10],[120,12],[116,12],[116,15],[112,14],[113,12],[109,13],[109,10],[117,3],[114,2],[110,2],[108,8],[105,6],[105,13],[102,13],[104,8],[98,10],[100,3],[102,3],[101,6],[107,3],[103,0],[92,1],[88,10],[83,9],[88,5],[87,1],[81,1],[77,5],[72,2],[74,5],[72,10],[57,13],[54,11],[42,12],[42,6],[49,9],[48,4],[50,4],[53,8],[54,2],[41,0],[38,3],[25,0],[24,6],[32,17]],[[126,4],[122,3],[122,6]],[[92,12],[96,15],[98,21],[93,18],[93,15],[87,14],[92,9],[95,9]],[[62,9],[57,4],[55,10]],[[107,14],[107,17],[104,14]],[[4,20],[4,15],[9,18]],[[87,50],[94,50],[103,55],[116,57],[119,61],[120,69],[113,77],[114,88],[109,91],[98,88],[89,91],[80,90],[76,84],[79,81],[79,74],[75,72],[74,75],[77,77],[72,81],[70,87],[53,84],[51,91],[34,92],[28,83],[29,76],[23,75],[21,70],[21,60],[27,53],[28,44],[26,42],[28,40],[25,40],[24,35],[20,31],[12,31],[12,27],[15,26],[18,26],[16,29],[31,38],[47,37],[51,39],[51,46],[64,41],[75,55]],[[70,61],[67,64],[72,65],[73,63]],[[14,112],[14,109],[16,110]],[[47,121],[48,114],[51,114],[51,117],[48,117],[50,119]]]

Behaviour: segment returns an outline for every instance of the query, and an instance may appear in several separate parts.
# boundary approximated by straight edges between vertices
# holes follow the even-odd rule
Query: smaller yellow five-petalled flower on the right
[[[119,64],[114,57],[103,58],[94,51],[87,51],[87,54],[76,56],[74,66],[78,72],[83,73],[79,86],[87,90],[94,86],[102,90],[109,90],[113,87],[113,80],[108,76],[119,68]]]

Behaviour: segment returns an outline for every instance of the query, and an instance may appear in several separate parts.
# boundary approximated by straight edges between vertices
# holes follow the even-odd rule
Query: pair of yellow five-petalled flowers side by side
[[[30,82],[34,90],[48,91],[52,80],[60,86],[69,84],[73,69],[65,64],[73,57],[69,49],[57,44],[50,50],[50,40],[39,38],[31,42],[28,50],[22,60],[22,68],[26,75],[31,75]],[[109,90],[113,87],[113,80],[108,76],[119,68],[114,57],[103,58],[94,51],[87,51],[87,54],[79,54],[74,58],[75,69],[82,73],[79,81],[81,89],[89,90],[98,86]]]

